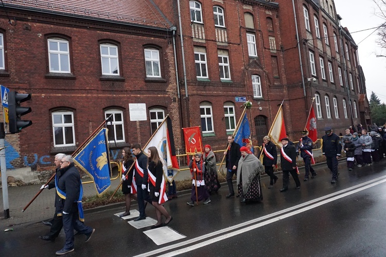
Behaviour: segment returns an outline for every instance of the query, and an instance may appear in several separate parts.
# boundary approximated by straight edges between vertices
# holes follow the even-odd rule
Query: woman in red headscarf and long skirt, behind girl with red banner
[[[205,165],[205,187],[208,193],[212,191],[217,192],[220,189],[220,182],[218,181],[216,156],[209,144],[204,146],[204,165]]]

